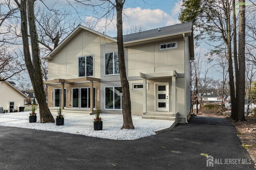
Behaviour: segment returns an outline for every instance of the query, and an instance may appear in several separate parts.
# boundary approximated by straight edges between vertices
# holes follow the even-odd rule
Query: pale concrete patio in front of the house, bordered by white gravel
[[[53,123],[47,125],[39,123],[39,114],[37,115],[37,123],[28,123],[29,113],[27,111],[0,114],[0,125],[81,134],[93,128],[93,118],[95,117],[95,115],[85,115],[83,113],[66,113],[64,114],[64,125],[56,126]],[[52,114],[54,118],[57,115],[57,113]],[[123,123],[122,115],[100,114],[100,116],[103,119],[103,130],[116,126],[121,127]],[[168,131],[175,126],[175,121],[170,120],[142,119],[141,116],[132,116],[132,120],[135,127],[154,127],[155,133]]]

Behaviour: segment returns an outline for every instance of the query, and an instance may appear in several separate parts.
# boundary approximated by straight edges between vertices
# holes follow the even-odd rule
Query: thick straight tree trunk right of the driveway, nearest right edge
[[[245,0],[239,0],[239,23],[238,23],[238,105],[236,121],[244,121],[244,98],[245,98]]]

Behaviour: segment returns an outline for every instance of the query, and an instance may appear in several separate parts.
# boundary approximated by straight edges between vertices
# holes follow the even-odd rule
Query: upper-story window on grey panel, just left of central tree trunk
[[[118,52],[105,53],[105,75],[119,74]]]

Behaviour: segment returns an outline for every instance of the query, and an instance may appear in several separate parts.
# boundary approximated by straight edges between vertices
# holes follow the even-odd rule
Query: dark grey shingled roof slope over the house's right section
[[[186,31],[191,31],[193,27],[192,22],[186,22],[186,23],[179,23],[176,25],[170,25],[166,27],[160,27],[158,31],[158,28],[156,29],[150,29],[148,31],[142,31],[139,33],[132,33],[127,34],[123,36],[124,42],[129,41],[136,41],[140,39],[146,39],[146,38],[152,38],[152,37],[159,37],[163,35],[170,35],[175,33],[181,33]],[[116,37],[114,37],[116,39]]]

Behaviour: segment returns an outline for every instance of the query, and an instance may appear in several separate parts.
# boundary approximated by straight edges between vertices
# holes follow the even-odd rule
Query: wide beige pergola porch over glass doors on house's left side
[[[83,77],[83,78],[72,78],[72,79],[54,79],[54,80],[47,80],[44,81],[44,84],[48,85],[48,107],[51,111],[56,111],[57,106],[55,106],[55,92],[53,90],[60,89],[60,106],[63,109],[63,113],[87,113],[87,114],[94,114],[96,113],[96,109],[98,105],[96,104],[96,87],[94,86],[95,83],[100,82],[100,78],[94,77]],[[84,86],[86,84],[86,86]],[[89,86],[88,86],[89,84]],[[49,86],[51,87],[49,90]],[[54,88],[54,87],[60,88]],[[68,90],[67,90],[68,88]],[[73,90],[77,89],[77,106],[74,106],[73,101]],[[86,108],[82,108],[81,106],[81,99],[82,99],[82,89],[86,89]],[[99,93],[98,88],[98,93]],[[71,91],[71,93],[70,93]],[[88,91],[88,92],[87,92]],[[71,95],[71,98],[70,98]],[[99,96],[99,94],[98,94]],[[88,101],[87,101],[88,100]],[[49,101],[52,104],[49,104]],[[64,101],[64,102],[62,102]],[[98,97],[98,102],[100,98]]]

